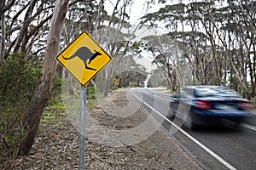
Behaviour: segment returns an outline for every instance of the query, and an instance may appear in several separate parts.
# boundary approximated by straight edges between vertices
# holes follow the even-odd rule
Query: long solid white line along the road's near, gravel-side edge
[[[133,94],[131,92],[131,94]],[[193,142],[195,142],[195,144],[198,144],[203,150],[206,150],[208,154],[210,154],[211,156],[213,156],[215,159],[217,159],[219,162],[221,162],[222,164],[224,164],[225,167],[228,167],[230,170],[236,170],[236,167],[233,167],[232,165],[230,165],[229,162],[225,161],[223,158],[221,158],[220,156],[218,156],[216,153],[214,153],[212,150],[210,150],[209,148],[207,148],[206,145],[201,144],[200,141],[198,141],[197,139],[195,139],[194,137],[192,137],[191,135],[189,135],[189,133],[186,133],[182,128],[177,127],[176,124],[174,124],[173,122],[171,122],[169,119],[166,118],[166,116],[163,116],[162,114],[160,114],[159,111],[156,111],[153,107],[151,107],[150,105],[148,105],[146,102],[143,101],[143,99],[140,99],[139,97],[137,97],[136,94],[133,94],[137,99],[139,99],[141,102],[143,102],[144,105],[147,105],[150,109],[152,109],[153,111],[155,111],[157,114],[159,114],[161,117],[163,117],[167,122],[170,122],[174,127],[176,127],[181,133],[183,133],[184,135],[186,135],[189,139],[191,139]]]

